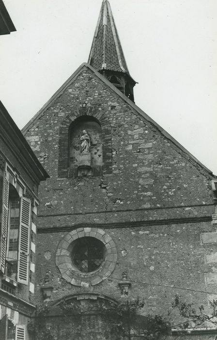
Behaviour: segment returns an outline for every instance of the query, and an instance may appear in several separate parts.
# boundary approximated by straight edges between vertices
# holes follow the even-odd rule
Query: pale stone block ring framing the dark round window
[[[93,237],[99,239],[106,247],[105,261],[94,272],[79,272],[72,262],[72,242],[78,238]],[[67,233],[60,241],[56,253],[56,265],[59,268],[62,278],[74,286],[94,286],[107,279],[113,272],[118,254],[112,238],[104,230],[91,227],[79,227]]]

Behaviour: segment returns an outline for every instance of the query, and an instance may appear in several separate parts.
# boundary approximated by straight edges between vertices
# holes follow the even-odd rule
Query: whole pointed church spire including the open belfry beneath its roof
[[[103,0],[88,63],[134,101],[133,86],[108,0]]]

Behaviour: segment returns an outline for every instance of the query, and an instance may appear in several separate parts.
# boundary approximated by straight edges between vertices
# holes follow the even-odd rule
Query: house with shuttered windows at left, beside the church
[[[29,339],[38,186],[47,177],[0,102],[0,340]]]

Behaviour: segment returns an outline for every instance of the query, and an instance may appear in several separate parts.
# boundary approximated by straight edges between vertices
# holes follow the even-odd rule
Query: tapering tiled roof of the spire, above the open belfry
[[[103,0],[88,63],[97,71],[129,73],[108,0]]]

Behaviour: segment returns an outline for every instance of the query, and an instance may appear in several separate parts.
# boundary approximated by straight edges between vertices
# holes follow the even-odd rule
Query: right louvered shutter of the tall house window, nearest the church
[[[26,197],[21,197],[17,281],[24,285],[28,284],[29,274],[30,222],[31,201]]]

